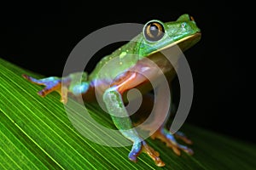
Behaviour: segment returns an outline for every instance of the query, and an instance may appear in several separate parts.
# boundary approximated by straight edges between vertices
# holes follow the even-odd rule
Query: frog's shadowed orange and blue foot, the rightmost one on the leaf
[[[166,145],[174,151],[177,156],[181,155],[181,151],[183,150],[184,152],[188,153],[189,155],[193,155],[194,151],[191,150],[189,147],[183,145],[183,144],[178,144],[177,140],[175,139],[181,139],[183,142],[186,144],[192,144],[192,141],[189,140],[183,133],[177,132],[176,134],[172,135],[166,128],[161,127],[159,130],[157,130],[152,136],[152,139],[160,139]]]

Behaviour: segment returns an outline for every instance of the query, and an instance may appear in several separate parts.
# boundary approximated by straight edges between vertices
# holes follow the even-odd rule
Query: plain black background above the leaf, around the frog
[[[0,57],[46,77],[61,76],[74,46],[92,31],[117,23],[176,20],[191,14],[201,28],[201,42],[185,52],[195,94],[187,122],[255,142],[253,97],[248,56],[239,37],[243,22],[231,3],[182,1],[96,4],[20,3],[2,5]],[[244,24],[250,29],[250,24]],[[114,48],[108,48],[109,54]],[[102,57],[102,56],[100,56]],[[96,63],[92,62],[92,64]],[[91,71],[93,65],[88,66]],[[255,111],[254,111],[255,112]]]

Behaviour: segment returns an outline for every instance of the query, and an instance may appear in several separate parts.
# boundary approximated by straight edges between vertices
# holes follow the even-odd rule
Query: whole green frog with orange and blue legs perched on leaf
[[[148,24],[153,21],[158,25],[152,26]],[[137,156],[145,152],[154,160],[157,166],[162,167],[165,166],[165,163],[160,160],[159,153],[154,151],[132,128],[133,124],[125,109],[123,96],[131,88],[139,87],[144,89],[144,93],[150,90],[150,88],[146,88],[148,80],[137,73],[142,72],[149,75],[149,77],[158,77],[155,65],[148,63],[147,59],[153,60],[160,70],[167,75],[166,77],[172,80],[172,77],[175,76],[172,65],[167,64],[166,59],[160,57],[158,52],[170,48],[173,44],[177,44],[185,51],[200,40],[201,33],[195,24],[195,20],[189,14],[181,15],[176,21],[162,23],[159,20],[152,20],[148,23],[144,26],[143,32],[131,42],[104,57],[96,65],[95,70],[91,72],[89,77],[85,72],[82,74],[73,73],[62,78],[48,77],[39,80],[26,75],[23,75],[23,77],[30,82],[46,86],[38,92],[43,97],[53,91],[59,92],[63,103],[67,103],[67,94],[73,94],[74,96],[83,94],[85,101],[95,99],[94,91],[96,88],[102,94],[102,99],[109,114],[112,116],[114,125],[125,138],[133,142],[128,156],[129,159],[137,161]],[[161,31],[164,31],[164,33],[161,34]],[[113,67],[111,66],[110,70],[102,71],[103,67],[113,59],[118,60],[118,63],[115,63]],[[109,66],[107,65],[107,67]],[[148,70],[148,68],[150,69]],[[193,154],[191,149],[185,145],[178,144],[176,139],[182,139],[187,144],[191,144],[191,141],[183,133],[170,133],[165,125],[162,125],[151,137],[165,142],[177,155],[180,155],[180,150]]]

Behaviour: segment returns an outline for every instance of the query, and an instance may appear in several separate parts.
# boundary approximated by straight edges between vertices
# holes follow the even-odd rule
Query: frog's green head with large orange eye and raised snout
[[[143,27],[139,54],[147,56],[175,44],[185,51],[200,39],[201,31],[189,14],[183,14],[176,21],[166,23],[150,20]]]

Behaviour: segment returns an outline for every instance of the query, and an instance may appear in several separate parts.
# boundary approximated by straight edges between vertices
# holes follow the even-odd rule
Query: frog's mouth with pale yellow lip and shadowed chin
[[[179,39],[176,42],[172,42],[169,45],[167,45],[166,47],[160,48],[159,50],[155,51],[154,53],[163,51],[167,48],[172,48],[175,45],[178,45],[178,47],[181,48],[181,50],[184,52],[185,50],[194,46],[196,42],[199,42],[200,39],[201,39],[201,32],[196,32],[195,34],[193,34],[191,36],[183,37],[182,39]]]

